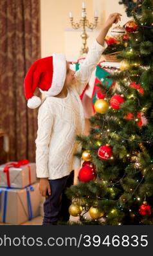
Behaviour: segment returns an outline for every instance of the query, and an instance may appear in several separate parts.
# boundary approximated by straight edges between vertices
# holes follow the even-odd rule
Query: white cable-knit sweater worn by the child
[[[67,88],[66,98],[48,96],[40,105],[35,140],[37,178],[58,179],[80,168],[80,160],[74,156],[81,150],[76,134],[84,134],[85,128],[79,95],[106,47],[95,40],[75,73],[76,84]]]

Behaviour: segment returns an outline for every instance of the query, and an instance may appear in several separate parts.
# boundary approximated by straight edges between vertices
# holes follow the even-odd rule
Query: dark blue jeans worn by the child
[[[44,202],[44,219],[42,225],[56,225],[57,221],[69,220],[69,205],[71,200],[67,198],[65,190],[73,185],[74,170],[60,179],[49,179],[51,195]]]

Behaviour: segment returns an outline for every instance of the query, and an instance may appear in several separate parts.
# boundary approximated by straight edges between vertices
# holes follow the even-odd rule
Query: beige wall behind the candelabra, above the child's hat
[[[124,24],[128,18],[123,5],[118,4],[119,0],[85,0],[87,6],[87,18],[93,21],[95,10],[99,11],[99,24],[93,32],[87,32],[89,39],[88,46],[98,34],[106,17],[111,12],[123,14]],[[69,11],[73,12],[75,21],[78,21],[82,13],[82,0],[40,0],[40,28],[41,28],[41,56],[46,57],[53,52],[64,52],[67,60],[76,60],[79,57],[82,46],[81,32],[76,32],[69,23]]]

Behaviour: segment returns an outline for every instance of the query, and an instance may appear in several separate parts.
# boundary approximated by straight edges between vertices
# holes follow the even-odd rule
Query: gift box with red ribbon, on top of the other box
[[[24,188],[37,182],[36,165],[28,160],[0,165],[0,187]]]

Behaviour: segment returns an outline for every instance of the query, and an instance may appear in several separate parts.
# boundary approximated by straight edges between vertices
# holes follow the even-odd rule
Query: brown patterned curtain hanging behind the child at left
[[[0,1],[0,129],[10,138],[10,161],[35,161],[38,110],[26,106],[23,80],[40,58],[39,22],[39,0]]]

